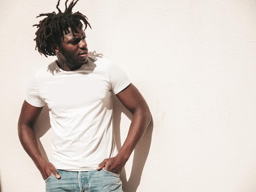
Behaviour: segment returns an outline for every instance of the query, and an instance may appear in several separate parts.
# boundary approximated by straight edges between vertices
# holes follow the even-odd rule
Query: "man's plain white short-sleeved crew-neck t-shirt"
[[[117,154],[112,121],[112,96],[130,85],[124,71],[105,58],[88,57],[75,71],[56,61],[31,79],[26,101],[49,108],[53,129],[51,163],[67,171],[96,170]]]

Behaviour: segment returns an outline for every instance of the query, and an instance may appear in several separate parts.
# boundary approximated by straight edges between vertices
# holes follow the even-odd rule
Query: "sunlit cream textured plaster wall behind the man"
[[[2,192],[44,191],[17,121],[31,75],[56,59],[34,50],[32,27],[56,2],[1,1]],[[152,112],[154,125],[121,174],[124,191],[256,191],[256,1],[80,0],[77,10],[92,25],[90,51],[119,63]],[[118,104],[120,147],[130,114]],[[45,108],[36,133],[49,157],[48,129]]]

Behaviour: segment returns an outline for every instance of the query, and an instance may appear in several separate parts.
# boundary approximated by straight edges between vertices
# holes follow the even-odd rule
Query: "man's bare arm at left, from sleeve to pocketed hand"
[[[40,151],[38,140],[34,132],[34,125],[38,119],[40,112],[43,107],[34,107],[24,101],[22,109],[20,112],[20,118],[18,121],[18,135],[20,138],[20,143],[22,144],[24,150],[31,157],[31,159],[36,164],[36,167],[46,179],[51,174],[54,174],[56,178],[61,178],[58,171],[55,169],[52,163],[47,162]]]

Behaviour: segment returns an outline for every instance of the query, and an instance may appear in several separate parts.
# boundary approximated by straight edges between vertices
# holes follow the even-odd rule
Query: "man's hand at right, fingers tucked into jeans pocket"
[[[125,164],[126,164],[126,160],[124,158],[120,158],[117,155],[112,158],[104,159],[97,167],[97,170],[101,170],[104,168],[109,172],[120,174]]]

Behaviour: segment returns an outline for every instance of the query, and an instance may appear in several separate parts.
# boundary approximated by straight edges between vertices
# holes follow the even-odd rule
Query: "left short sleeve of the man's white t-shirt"
[[[27,86],[27,95],[25,100],[34,107],[43,107],[45,105],[45,101],[40,97],[37,73],[32,76]]]

